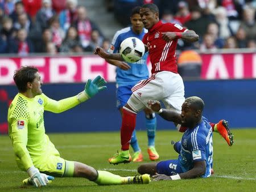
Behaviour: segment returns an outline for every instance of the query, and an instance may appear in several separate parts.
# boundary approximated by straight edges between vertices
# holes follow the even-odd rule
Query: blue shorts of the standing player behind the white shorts
[[[133,94],[133,92],[131,91],[131,88],[133,88],[133,86],[134,85],[122,86],[117,88],[117,109],[120,109],[123,106],[125,106],[131,94]]]

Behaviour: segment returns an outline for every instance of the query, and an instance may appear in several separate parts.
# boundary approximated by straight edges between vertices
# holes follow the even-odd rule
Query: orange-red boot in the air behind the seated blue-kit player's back
[[[226,140],[229,146],[232,146],[234,143],[233,137],[234,135],[229,130],[229,124],[226,120],[220,120],[217,123],[218,133]]]

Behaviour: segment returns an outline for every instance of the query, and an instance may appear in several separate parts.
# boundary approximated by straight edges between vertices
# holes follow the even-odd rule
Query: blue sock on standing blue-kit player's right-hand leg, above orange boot
[[[156,130],[156,117],[155,113],[150,117],[146,117],[146,127],[147,127],[147,146],[155,146],[155,130]]]

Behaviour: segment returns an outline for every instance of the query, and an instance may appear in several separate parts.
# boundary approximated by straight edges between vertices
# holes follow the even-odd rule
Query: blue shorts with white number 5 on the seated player
[[[156,172],[158,174],[166,174],[167,176],[173,176],[177,173],[183,173],[179,160],[167,160],[167,161],[160,161],[156,165]]]

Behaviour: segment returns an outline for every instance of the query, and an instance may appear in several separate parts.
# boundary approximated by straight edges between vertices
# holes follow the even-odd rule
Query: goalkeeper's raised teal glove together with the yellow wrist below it
[[[106,88],[106,86],[104,86],[105,84],[105,79],[102,78],[100,75],[93,79],[93,81],[89,79],[85,84],[84,91],[77,95],[77,99],[80,102],[88,100],[89,98],[96,95],[98,92],[104,90]]]

